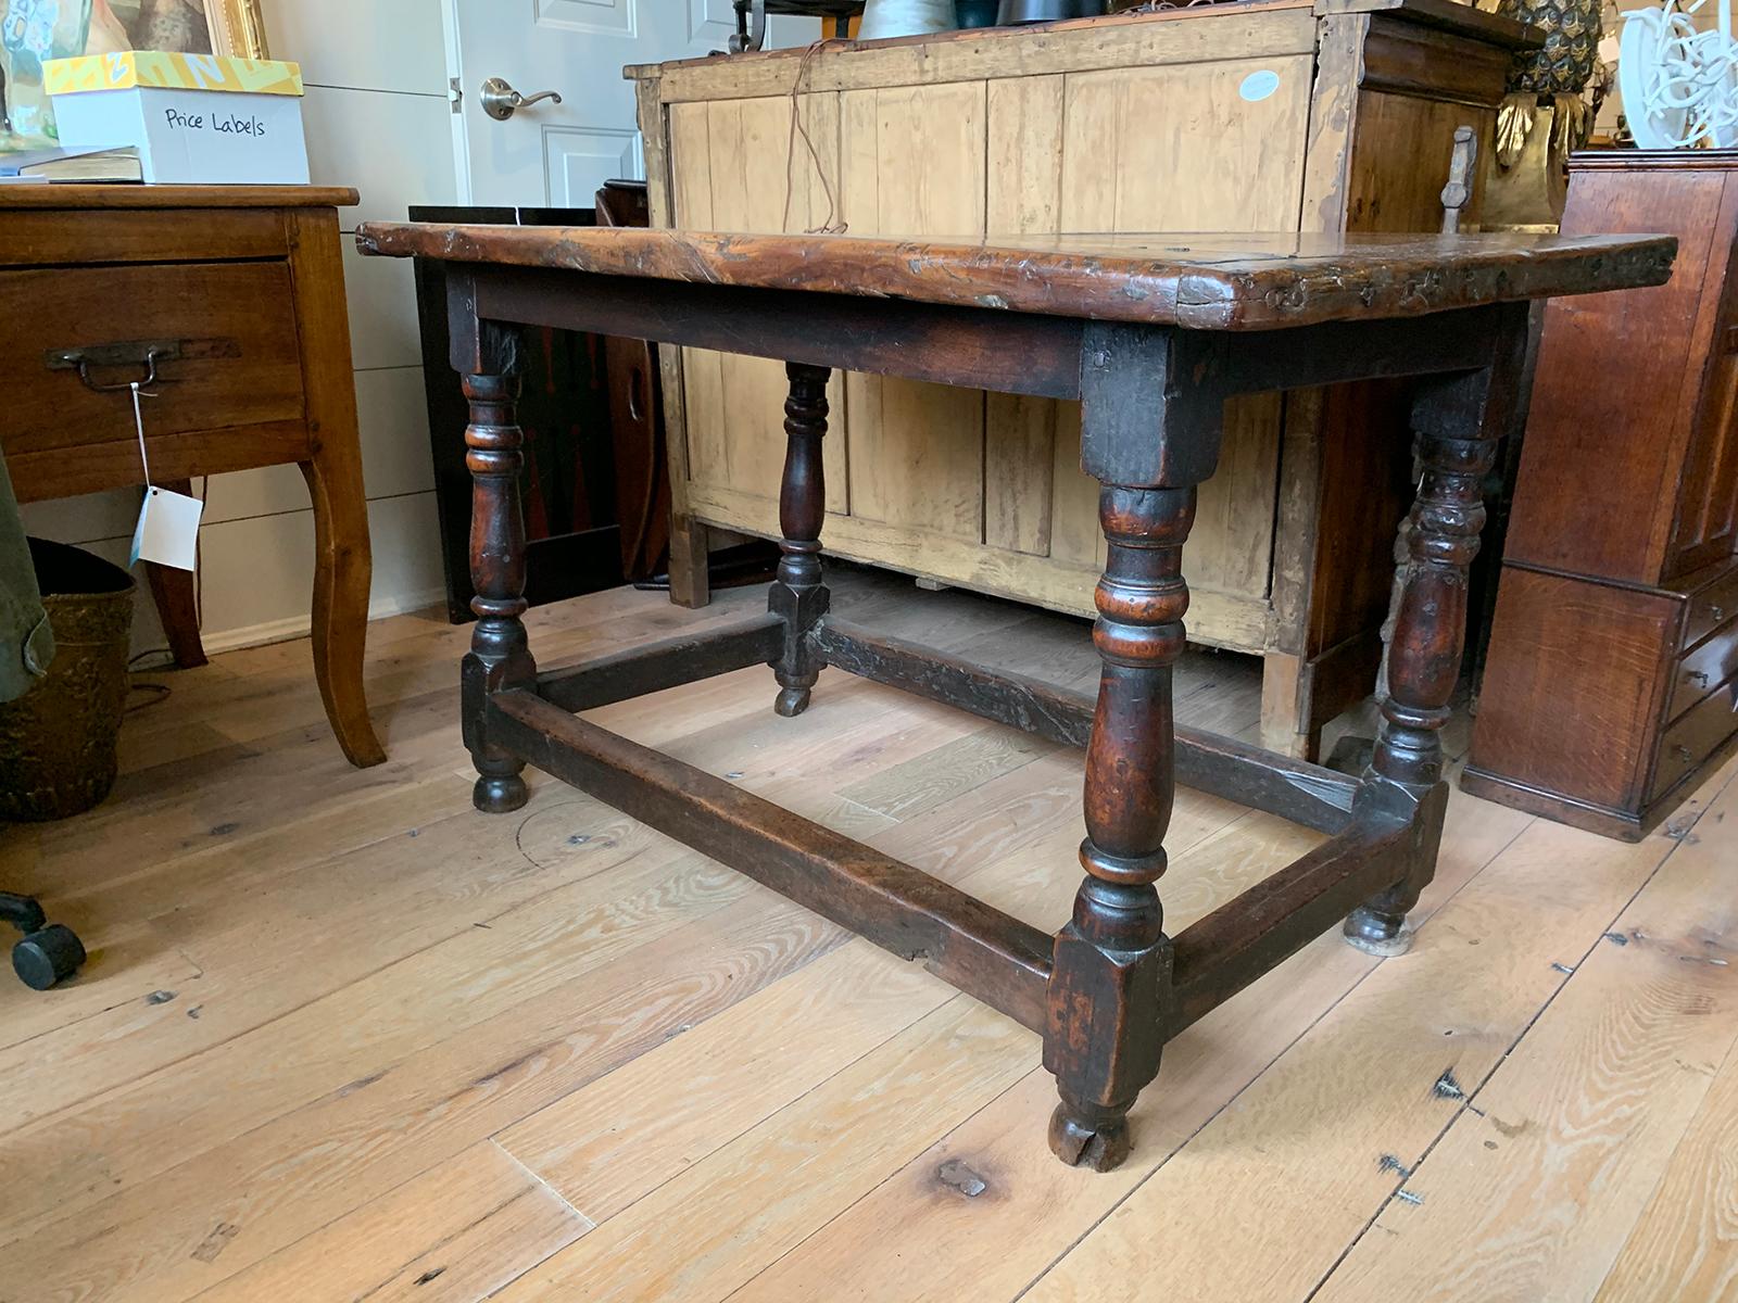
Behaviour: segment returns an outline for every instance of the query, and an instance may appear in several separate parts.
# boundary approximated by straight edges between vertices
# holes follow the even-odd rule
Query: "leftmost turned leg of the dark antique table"
[[[518,398],[516,335],[488,321],[476,325],[478,370],[466,374],[471,407],[464,464],[471,471],[471,584],[476,627],[461,672],[464,745],[476,764],[471,803],[490,815],[525,804],[525,761],[488,738],[488,698],[523,688],[537,678],[525,639],[525,518],[520,511],[520,467],[525,441],[514,419]]]

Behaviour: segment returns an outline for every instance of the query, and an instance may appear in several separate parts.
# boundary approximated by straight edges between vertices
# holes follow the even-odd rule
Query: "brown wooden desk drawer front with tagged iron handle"
[[[158,367],[144,400],[148,434],[301,420],[302,368],[283,262],[186,262],[0,273],[0,367],[14,377],[5,450],[52,452],[134,438],[127,389],[97,393],[50,351],[130,341],[186,341],[189,356]],[[143,368],[90,372],[99,384]]]

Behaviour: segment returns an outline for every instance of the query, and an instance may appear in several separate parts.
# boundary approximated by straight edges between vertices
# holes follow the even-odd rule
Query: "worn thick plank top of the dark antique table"
[[[900,238],[365,222],[365,254],[810,290],[1196,330],[1420,316],[1662,285],[1670,236]]]

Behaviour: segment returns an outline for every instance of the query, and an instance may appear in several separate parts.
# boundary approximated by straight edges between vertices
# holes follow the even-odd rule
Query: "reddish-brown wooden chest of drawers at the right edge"
[[[1562,231],[1679,257],[1545,313],[1462,785],[1634,839],[1738,745],[1738,151],[1578,155]]]

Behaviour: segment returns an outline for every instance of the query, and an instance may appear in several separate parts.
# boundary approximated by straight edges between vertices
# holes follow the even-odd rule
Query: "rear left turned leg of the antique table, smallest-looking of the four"
[[[820,579],[820,523],[826,516],[826,478],[820,440],[827,434],[827,367],[789,361],[791,396],[784,403],[784,483],[779,490],[779,577],[766,610],[784,618],[784,653],[773,662],[779,700],[773,711],[798,716],[820,678],[820,653],[808,631],[827,612],[827,585]]]

